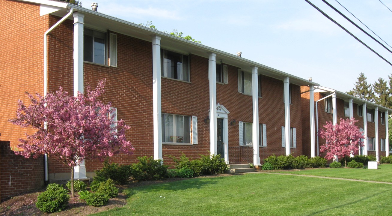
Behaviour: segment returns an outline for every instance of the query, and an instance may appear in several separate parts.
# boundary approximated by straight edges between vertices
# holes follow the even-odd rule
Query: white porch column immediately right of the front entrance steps
[[[253,165],[260,166],[259,152],[259,91],[258,91],[258,67],[252,67],[252,101],[253,101],[253,123],[252,123],[252,143],[253,143]]]

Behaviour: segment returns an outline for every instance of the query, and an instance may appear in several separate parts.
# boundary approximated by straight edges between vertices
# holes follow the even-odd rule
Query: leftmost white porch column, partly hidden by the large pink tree
[[[78,96],[78,92],[84,93],[83,83],[83,28],[84,15],[75,12],[74,17],[74,32],[73,32],[73,61],[74,61],[74,96]],[[74,179],[86,178],[86,167],[84,161],[79,166],[74,167]]]

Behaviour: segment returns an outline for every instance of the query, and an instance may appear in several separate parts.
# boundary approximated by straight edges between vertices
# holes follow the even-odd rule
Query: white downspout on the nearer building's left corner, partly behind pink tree
[[[67,13],[67,15],[65,15],[63,18],[61,18],[61,20],[58,20],[58,22],[56,22],[56,24],[54,24],[51,28],[49,28],[48,30],[45,31],[44,34],[44,97],[46,97],[47,94],[47,35],[54,29],[56,28],[58,25],[62,24],[62,22],[64,22],[69,16],[71,16],[73,13],[73,8],[71,8],[71,10],[69,11],[69,13]],[[46,106],[46,104],[45,104]],[[47,129],[47,123],[44,123],[44,129]],[[45,154],[44,156],[45,162],[44,162],[44,167],[45,167],[45,183],[48,183],[48,155]]]

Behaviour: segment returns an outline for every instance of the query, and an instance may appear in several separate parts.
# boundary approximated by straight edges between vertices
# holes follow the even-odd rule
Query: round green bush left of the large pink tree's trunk
[[[42,212],[62,211],[67,207],[69,195],[61,185],[56,183],[49,184],[46,191],[42,192],[35,203],[36,207]]]

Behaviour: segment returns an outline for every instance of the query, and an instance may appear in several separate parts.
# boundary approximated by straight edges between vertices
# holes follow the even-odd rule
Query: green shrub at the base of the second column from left
[[[132,164],[131,176],[134,180],[160,180],[167,177],[167,167],[162,160],[153,157],[138,157],[139,162]]]

